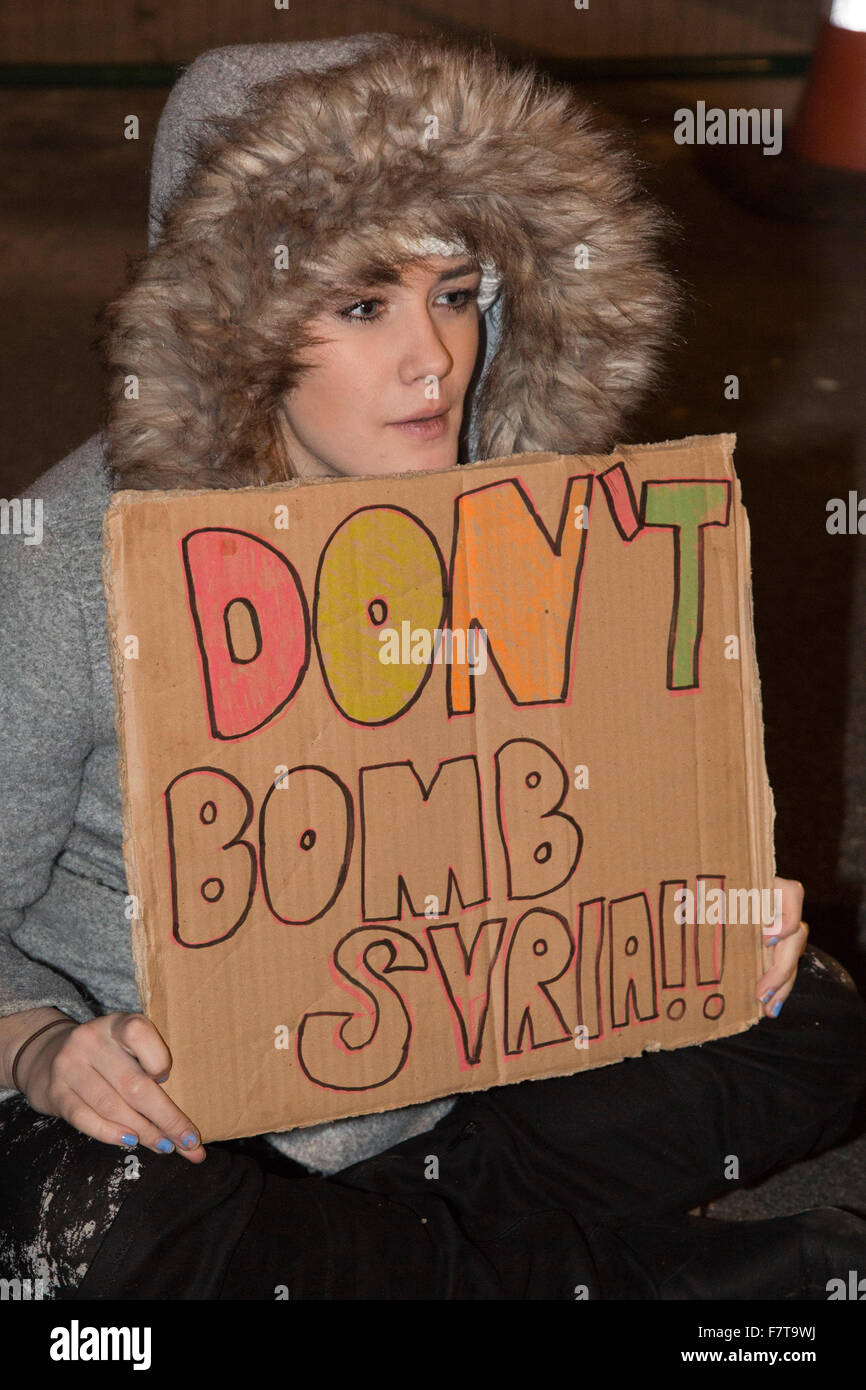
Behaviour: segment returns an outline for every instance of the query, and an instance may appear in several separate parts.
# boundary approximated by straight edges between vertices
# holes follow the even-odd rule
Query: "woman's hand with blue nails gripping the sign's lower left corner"
[[[35,1111],[58,1115],[103,1144],[156,1154],[172,1148],[192,1163],[206,1151],[186,1115],[157,1084],[171,1052],[143,1013],[106,1013],[50,1029],[22,1052],[18,1084]]]

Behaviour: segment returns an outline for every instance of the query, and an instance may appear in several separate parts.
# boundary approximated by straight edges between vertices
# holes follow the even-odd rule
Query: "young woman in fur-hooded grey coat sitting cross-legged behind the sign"
[[[731,1155],[748,1182],[834,1143],[863,1088],[866,1011],[819,952],[798,974],[791,880],[766,1017],[733,1038],[207,1155],[163,1088],[124,910],[110,486],[602,450],[676,303],[662,215],[567,89],[484,50],[357,49],[281,53],[311,71],[207,129],[181,190],[156,168],[158,238],[111,314],[110,471],[101,442],[51,470],[43,545],[0,556],[0,1275],[79,1300],[824,1297],[856,1218],[687,1216]],[[211,78],[256,64],[228,54]],[[177,117],[161,152],[189,164]]]

